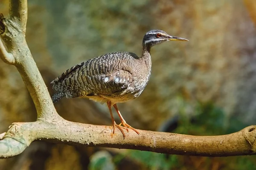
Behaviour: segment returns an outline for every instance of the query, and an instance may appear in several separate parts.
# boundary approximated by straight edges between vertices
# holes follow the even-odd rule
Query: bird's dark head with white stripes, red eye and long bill
[[[162,30],[148,31],[143,37],[143,46],[152,47],[166,41],[188,41],[184,38],[173,37]]]

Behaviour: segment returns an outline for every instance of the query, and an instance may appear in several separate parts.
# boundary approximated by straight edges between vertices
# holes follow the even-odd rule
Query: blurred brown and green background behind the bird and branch
[[[0,0],[8,16],[9,0]],[[145,32],[162,29],[189,42],[151,50],[151,79],[133,101],[119,104],[143,130],[192,135],[232,133],[256,122],[256,1],[29,0],[26,40],[49,84],[66,69],[113,51],[141,54]],[[67,120],[111,125],[108,108],[88,99],[55,105]],[[116,116],[116,121],[119,119]],[[0,133],[12,122],[36,120],[14,66],[0,61]],[[33,142],[0,160],[0,170],[251,170],[256,156],[208,158],[136,150]]]

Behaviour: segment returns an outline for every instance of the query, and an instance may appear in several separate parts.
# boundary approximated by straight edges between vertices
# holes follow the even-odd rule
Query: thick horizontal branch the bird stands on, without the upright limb
[[[123,139],[122,133],[118,130],[111,136],[111,126],[87,125],[68,122],[64,119],[55,122],[54,124],[15,123],[5,138],[0,141],[0,146],[10,138],[21,142],[5,145],[9,148],[6,149],[8,152],[0,150],[0,158],[13,156],[13,153],[9,152],[13,148],[17,148],[21,153],[24,144],[28,146],[33,140],[38,139],[92,147],[114,147],[191,156],[256,155],[256,126],[249,126],[239,132],[221,136],[190,136],[146,130],[140,130],[140,136],[138,136],[131,130]],[[18,153],[17,150],[15,153]]]

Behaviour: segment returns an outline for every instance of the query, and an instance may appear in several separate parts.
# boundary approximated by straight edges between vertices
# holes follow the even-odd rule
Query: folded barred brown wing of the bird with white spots
[[[116,52],[82,62],[57,77],[53,88],[68,98],[90,94],[113,94],[127,88],[132,82],[128,62],[136,54]]]

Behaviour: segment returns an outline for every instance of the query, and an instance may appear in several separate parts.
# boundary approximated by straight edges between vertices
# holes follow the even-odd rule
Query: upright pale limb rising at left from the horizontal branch
[[[38,119],[51,121],[58,114],[25,39],[27,1],[10,0],[9,12],[9,18],[1,15],[0,20],[0,32],[4,32],[1,38],[7,47],[0,42],[1,58],[17,67],[35,103]]]

